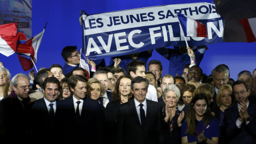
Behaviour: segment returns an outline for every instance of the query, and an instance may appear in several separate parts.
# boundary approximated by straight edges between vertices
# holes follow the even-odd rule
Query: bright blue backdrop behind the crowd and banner
[[[57,63],[64,65],[61,57],[63,47],[77,45],[82,48],[82,29],[79,23],[79,11],[84,10],[88,14],[136,9],[140,7],[208,2],[205,0],[173,0],[173,1],[153,1],[153,0],[94,0],[94,1],[66,1],[66,0],[44,0],[32,2],[32,35],[40,33],[45,23],[48,22],[42,43],[37,55],[37,69]],[[237,74],[242,70],[253,71],[255,66],[255,43],[218,43],[209,45],[209,50],[205,52],[200,67],[206,75],[211,74],[212,69],[222,63],[230,68],[230,77],[237,79]],[[164,59],[155,50],[153,57],[149,60],[157,59],[163,63],[163,74],[168,73],[169,61]],[[0,61],[4,67],[10,70],[12,77],[18,73],[28,74],[20,66],[17,54],[5,57],[0,54]],[[106,59],[108,65],[109,59]]]

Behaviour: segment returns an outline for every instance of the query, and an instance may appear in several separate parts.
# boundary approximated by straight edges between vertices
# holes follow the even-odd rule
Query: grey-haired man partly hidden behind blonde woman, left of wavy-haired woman
[[[111,94],[111,92],[107,91],[108,90],[108,74],[106,73],[106,71],[96,71],[93,74],[93,78],[98,79],[102,85],[103,85],[103,92],[102,92],[102,97],[100,97],[100,105],[103,105],[105,108],[108,105],[108,102],[113,101],[113,96]]]

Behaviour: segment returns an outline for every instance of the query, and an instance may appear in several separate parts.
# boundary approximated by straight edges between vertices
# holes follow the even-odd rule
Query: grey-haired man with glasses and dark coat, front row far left
[[[11,80],[12,91],[0,102],[0,139],[11,143],[29,143],[29,77],[17,74]]]

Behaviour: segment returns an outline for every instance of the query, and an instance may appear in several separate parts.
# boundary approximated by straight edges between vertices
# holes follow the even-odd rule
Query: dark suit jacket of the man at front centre
[[[147,99],[146,99],[147,100]],[[119,107],[117,113],[117,143],[165,143],[167,123],[158,102],[147,100],[145,129],[139,121],[134,100]]]

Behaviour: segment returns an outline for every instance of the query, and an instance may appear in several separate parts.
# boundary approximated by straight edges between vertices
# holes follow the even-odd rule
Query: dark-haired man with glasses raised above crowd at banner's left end
[[[63,74],[70,73],[74,68],[79,67],[80,51],[76,46],[66,46],[61,52],[62,58],[65,60],[63,66]]]

